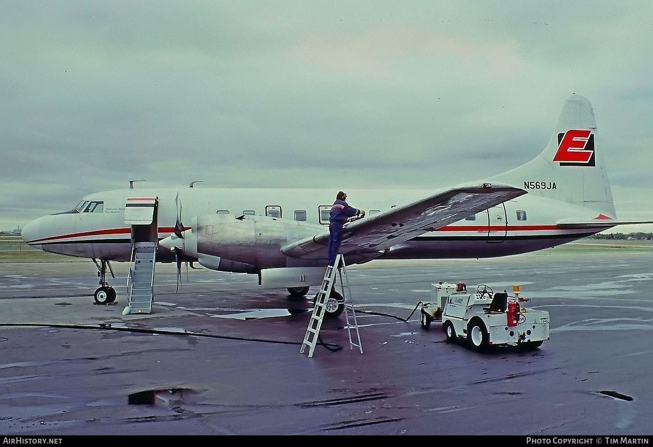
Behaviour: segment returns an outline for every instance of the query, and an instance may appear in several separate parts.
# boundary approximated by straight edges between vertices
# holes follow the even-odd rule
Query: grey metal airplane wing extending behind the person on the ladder
[[[369,261],[383,250],[415,236],[464,219],[505,201],[526,194],[507,184],[483,183],[457,186],[419,201],[346,223],[340,252],[347,263]],[[325,259],[328,231],[281,247],[286,256]]]

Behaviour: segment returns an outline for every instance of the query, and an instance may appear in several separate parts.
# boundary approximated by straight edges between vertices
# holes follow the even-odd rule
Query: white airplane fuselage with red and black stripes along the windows
[[[424,190],[349,190],[349,203],[366,210],[368,216],[428,195]],[[185,228],[197,216],[222,214],[225,219],[243,214],[268,216],[283,222],[301,222],[314,231],[328,231],[331,190],[275,189],[129,189],[93,193],[76,210],[44,216],[23,230],[25,242],[46,252],[110,261],[129,261],[132,227],[123,222],[129,197],[156,197],[154,223],[157,240],[174,230],[181,204]],[[567,208],[567,209],[565,209]],[[579,216],[588,210],[576,205],[524,195],[498,207],[473,214],[466,220],[427,231],[386,250],[377,259],[430,259],[498,257],[550,248],[601,231],[563,228],[556,216]],[[587,219],[594,218],[587,215]],[[312,230],[311,230],[312,231]],[[292,236],[291,236],[292,237]],[[302,235],[298,235],[298,238]],[[159,261],[174,261],[174,254],[160,248]],[[261,259],[258,269],[285,267],[281,261]]]

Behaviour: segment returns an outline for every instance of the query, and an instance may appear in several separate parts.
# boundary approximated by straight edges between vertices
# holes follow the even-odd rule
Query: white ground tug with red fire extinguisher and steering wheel
[[[428,330],[434,321],[442,322],[447,341],[465,340],[474,350],[490,346],[512,345],[539,348],[549,340],[549,312],[520,306],[528,298],[494,293],[481,284],[476,293],[468,293],[464,282],[432,284],[431,303],[422,303],[421,326]]]

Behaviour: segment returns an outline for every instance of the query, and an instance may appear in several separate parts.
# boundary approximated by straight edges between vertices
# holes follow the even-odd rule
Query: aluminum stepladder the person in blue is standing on
[[[356,311],[354,310],[354,303],[351,299],[351,291],[349,290],[349,280],[347,279],[345,258],[342,256],[342,254],[338,254],[336,256],[334,265],[327,266],[327,271],[325,272],[322,286],[320,291],[317,292],[317,297],[315,298],[315,307],[313,308],[313,314],[311,314],[311,319],[308,323],[308,329],[306,329],[306,335],[304,336],[302,349],[299,351],[300,354],[302,354],[304,352],[304,348],[308,346],[308,357],[313,357],[313,351],[315,351],[317,337],[319,335],[320,328],[322,327],[322,320],[325,316],[325,309],[328,303],[329,295],[331,294],[331,291],[334,290],[336,282],[336,271],[338,272],[337,279],[340,280],[340,287],[344,300],[345,319],[347,321],[347,334],[349,335],[349,349],[353,349],[354,346],[356,346],[360,350],[360,354],[363,353],[362,344],[360,343],[360,333],[358,332]],[[355,339],[352,339],[351,337],[352,328],[355,329]]]

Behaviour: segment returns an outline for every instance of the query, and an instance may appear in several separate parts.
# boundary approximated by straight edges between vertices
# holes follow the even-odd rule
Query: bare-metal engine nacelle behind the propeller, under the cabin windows
[[[255,269],[290,267],[297,265],[296,260],[282,254],[281,247],[323,231],[319,225],[295,220],[208,214],[194,219],[191,229],[184,231],[184,251],[197,256],[200,263],[202,256],[212,256]]]

